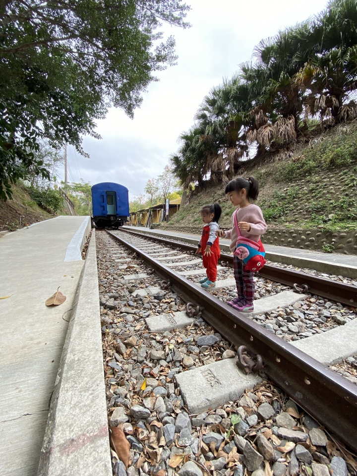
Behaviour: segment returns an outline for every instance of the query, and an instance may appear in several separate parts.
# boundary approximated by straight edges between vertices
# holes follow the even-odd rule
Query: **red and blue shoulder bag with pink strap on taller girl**
[[[253,273],[259,271],[266,263],[266,259],[264,258],[265,249],[263,243],[260,241],[260,239],[258,242],[256,242],[240,235],[237,213],[235,213],[234,222],[238,234],[237,248],[234,252],[235,256],[238,256],[238,258],[243,261],[245,264],[244,269],[247,269]]]

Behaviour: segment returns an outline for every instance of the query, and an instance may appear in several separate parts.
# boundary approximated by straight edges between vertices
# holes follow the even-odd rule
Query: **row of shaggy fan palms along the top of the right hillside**
[[[284,158],[318,131],[357,117],[357,0],[262,40],[255,61],[211,89],[171,156],[181,184],[231,179],[251,150]]]

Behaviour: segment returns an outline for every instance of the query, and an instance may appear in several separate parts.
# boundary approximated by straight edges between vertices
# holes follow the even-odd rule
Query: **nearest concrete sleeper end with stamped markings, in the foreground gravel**
[[[245,375],[235,358],[226,358],[175,375],[188,413],[198,415],[238,400],[246,388],[261,382],[256,374]]]

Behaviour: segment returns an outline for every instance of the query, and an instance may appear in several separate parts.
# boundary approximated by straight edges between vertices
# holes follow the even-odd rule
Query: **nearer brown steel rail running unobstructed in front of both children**
[[[251,356],[261,355],[264,373],[316,418],[357,451],[357,386],[323,366],[314,358],[259,326],[244,314],[233,312],[217,297],[163,265],[140,248],[118,237],[129,250],[141,256],[148,267],[170,281],[187,302],[204,307],[202,317],[227,341],[246,346]]]

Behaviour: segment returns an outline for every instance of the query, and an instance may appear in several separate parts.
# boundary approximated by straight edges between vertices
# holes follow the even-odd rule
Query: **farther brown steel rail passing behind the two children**
[[[141,238],[149,238],[151,240],[163,243],[171,247],[179,247],[185,251],[195,251],[196,246],[180,243],[178,241],[172,241],[166,238],[153,237],[151,235],[144,235],[139,232],[132,232],[131,230],[120,230],[131,235],[137,235]],[[221,253],[219,262],[224,261],[230,266],[233,266],[233,255]],[[357,287],[351,284],[340,283],[338,281],[332,281],[328,278],[320,278],[319,276],[313,276],[307,273],[301,273],[300,271],[293,271],[287,268],[280,268],[266,264],[264,268],[257,273],[257,276],[275,281],[277,283],[285,284],[293,288],[295,284],[300,287],[303,285],[308,286],[308,292],[316,296],[325,297],[332,301],[340,302],[348,306],[357,306]]]

